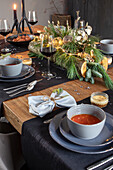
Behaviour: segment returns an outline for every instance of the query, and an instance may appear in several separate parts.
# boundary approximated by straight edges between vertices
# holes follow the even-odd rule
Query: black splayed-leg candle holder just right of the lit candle
[[[21,24],[22,24],[22,31],[24,31],[24,21],[26,21],[26,24],[29,28],[30,33],[33,34],[33,31],[31,29],[31,27],[28,23],[28,19],[26,17],[24,0],[21,1],[21,5],[22,5],[22,18],[21,18],[20,23],[19,23],[19,32],[21,31],[21,29],[20,29]]]

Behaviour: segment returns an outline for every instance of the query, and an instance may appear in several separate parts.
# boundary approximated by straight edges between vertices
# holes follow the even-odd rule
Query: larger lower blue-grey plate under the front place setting
[[[49,133],[50,136],[53,138],[54,141],[56,141],[59,145],[62,147],[78,153],[84,153],[84,154],[101,154],[105,152],[110,152],[113,150],[113,143],[110,143],[109,145],[103,146],[103,147],[88,147],[88,146],[82,146],[77,145],[66,138],[62,136],[62,134],[59,131],[59,124],[62,120],[62,116],[66,113],[66,111],[61,112],[60,114],[56,115],[54,119],[49,124]]]

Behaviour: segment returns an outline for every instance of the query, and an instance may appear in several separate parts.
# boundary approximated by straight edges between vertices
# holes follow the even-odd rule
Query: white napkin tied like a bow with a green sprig
[[[55,89],[51,96],[30,96],[28,97],[29,112],[43,117],[57,107],[72,107],[76,105],[75,99],[62,88]]]

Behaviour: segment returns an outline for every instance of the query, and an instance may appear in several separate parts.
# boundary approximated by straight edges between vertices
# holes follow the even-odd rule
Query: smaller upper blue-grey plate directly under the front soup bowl
[[[106,113],[106,122],[102,132],[94,139],[85,140],[74,136],[69,130],[66,116],[59,124],[59,129],[66,139],[83,146],[103,147],[113,142],[113,116],[109,113]]]

